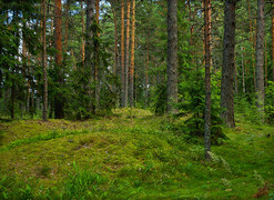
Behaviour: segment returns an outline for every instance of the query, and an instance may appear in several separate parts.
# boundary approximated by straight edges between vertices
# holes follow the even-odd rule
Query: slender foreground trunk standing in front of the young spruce
[[[205,51],[205,114],[204,154],[210,160],[211,151],[211,0],[204,0],[204,51]]]

